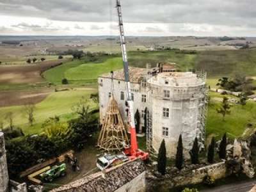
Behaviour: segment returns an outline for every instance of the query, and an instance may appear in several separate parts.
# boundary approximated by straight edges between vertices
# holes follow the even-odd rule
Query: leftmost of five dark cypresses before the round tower
[[[164,140],[162,141],[158,151],[157,171],[162,175],[165,175],[165,172],[166,172],[166,147],[165,147]]]

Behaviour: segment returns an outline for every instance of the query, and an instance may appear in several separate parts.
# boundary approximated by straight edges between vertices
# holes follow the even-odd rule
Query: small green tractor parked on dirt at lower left
[[[40,174],[40,177],[47,182],[52,182],[52,180],[63,177],[66,175],[67,166],[65,163],[60,165],[52,166],[51,170]]]

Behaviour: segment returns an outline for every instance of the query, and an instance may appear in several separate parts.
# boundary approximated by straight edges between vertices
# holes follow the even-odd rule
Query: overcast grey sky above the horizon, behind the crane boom
[[[0,0],[0,35],[118,35],[116,0]],[[256,36],[256,0],[123,0],[126,35]]]

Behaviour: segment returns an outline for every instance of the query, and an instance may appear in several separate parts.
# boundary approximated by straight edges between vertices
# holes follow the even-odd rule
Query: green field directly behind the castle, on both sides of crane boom
[[[129,52],[129,64],[133,67],[146,67],[147,63],[155,67],[159,62],[175,62],[180,70],[190,70],[195,64],[196,54],[176,53],[175,51],[159,52]],[[92,83],[100,74],[122,68],[122,57],[102,56],[96,62],[90,62],[84,57],[63,63],[58,67],[44,72],[47,81],[61,84],[63,78],[67,78],[70,84]]]

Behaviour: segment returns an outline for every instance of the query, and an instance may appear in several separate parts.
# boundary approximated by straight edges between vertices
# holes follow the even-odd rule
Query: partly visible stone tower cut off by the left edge
[[[4,134],[0,132],[0,192],[8,191],[8,169],[6,161],[6,151],[4,143]]]

